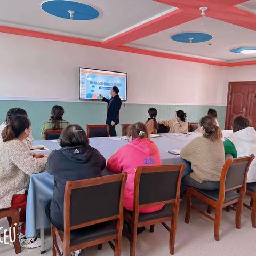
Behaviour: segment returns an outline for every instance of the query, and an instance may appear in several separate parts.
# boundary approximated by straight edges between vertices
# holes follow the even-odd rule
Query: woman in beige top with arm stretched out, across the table
[[[176,111],[175,117],[172,120],[162,120],[159,124],[170,127],[169,133],[184,133],[188,132],[187,114],[183,110]]]

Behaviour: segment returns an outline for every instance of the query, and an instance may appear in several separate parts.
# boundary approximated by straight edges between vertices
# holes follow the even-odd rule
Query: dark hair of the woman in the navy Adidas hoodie
[[[84,129],[78,124],[68,125],[60,134],[59,141],[62,148],[89,145]]]

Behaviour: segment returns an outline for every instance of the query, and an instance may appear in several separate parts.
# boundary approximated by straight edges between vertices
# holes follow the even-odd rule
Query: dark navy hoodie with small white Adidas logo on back
[[[66,182],[100,177],[105,167],[105,158],[90,145],[63,147],[52,151],[48,157],[46,171],[54,176],[50,206],[50,219],[53,225],[60,229],[64,228],[63,203]]]

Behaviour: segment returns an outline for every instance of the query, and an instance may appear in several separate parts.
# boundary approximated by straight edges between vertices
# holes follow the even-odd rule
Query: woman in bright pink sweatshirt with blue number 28
[[[133,211],[133,189],[135,170],[138,166],[161,165],[159,150],[148,138],[147,127],[143,123],[132,124],[127,132],[131,142],[124,145],[108,159],[107,169],[113,172],[127,172],[124,192],[124,207]],[[161,210],[163,205],[140,207],[139,212],[148,213]]]

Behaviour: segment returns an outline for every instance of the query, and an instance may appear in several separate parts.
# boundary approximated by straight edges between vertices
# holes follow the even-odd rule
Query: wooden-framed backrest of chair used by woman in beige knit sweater
[[[253,159],[254,155],[250,155],[226,161],[221,172],[219,200],[225,198],[225,192],[236,188],[245,193],[247,173]]]

